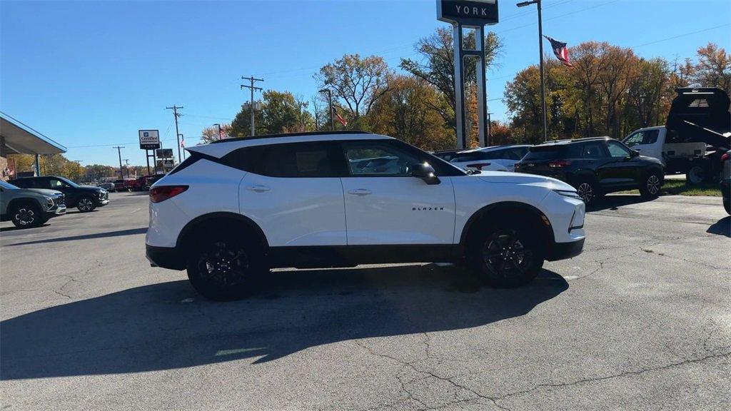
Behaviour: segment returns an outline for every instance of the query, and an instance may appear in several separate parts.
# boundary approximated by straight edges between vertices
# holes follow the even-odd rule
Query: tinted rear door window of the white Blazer
[[[254,173],[270,177],[338,177],[341,171],[332,144],[288,143],[266,146]]]

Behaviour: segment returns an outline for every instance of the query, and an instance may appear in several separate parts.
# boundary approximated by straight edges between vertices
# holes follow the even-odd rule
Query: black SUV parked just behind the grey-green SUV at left
[[[67,207],[76,207],[82,213],[109,204],[109,193],[101,187],[80,186],[75,182],[56,176],[25,177],[8,181],[23,189],[52,189],[66,195]]]

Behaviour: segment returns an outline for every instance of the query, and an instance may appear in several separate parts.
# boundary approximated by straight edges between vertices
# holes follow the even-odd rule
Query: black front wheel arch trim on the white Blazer
[[[540,230],[539,233],[542,237],[542,241],[545,241],[547,246],[550,246],[555,241],[553,236],[553,226],[550,225],[550,219],[538,208],[518,201],[501,201],[499,203],[488,204],[488,206],[480,208],[475,211],[469,219],[467,219],[460,236],[460,248],[462,250],[466,249],[466,246],[469,244],[468,241],[472,238],[472,236],[474,236],[476,229],[480,227],[482,223],[489,222],[491,219],[495,219],[499,216],[506,216],[506,214],[509,214],[510,216],[521,214],[529,216],[529,218],[533,220],[531,221],[532,223],[542,227],[542,230]],[[545,218],[545,221],[543,218]],[[548,222],[548,225],[546,225],[545,222]]]

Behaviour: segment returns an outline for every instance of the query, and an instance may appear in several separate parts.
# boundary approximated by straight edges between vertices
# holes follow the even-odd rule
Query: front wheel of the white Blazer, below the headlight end
[[[533,281],[543,267],[537,227],[518,219],[480,227],[469,246],[468,260],[477,275],[492,287],[520,287]],[[525,221],[525,220],[522,220]]]

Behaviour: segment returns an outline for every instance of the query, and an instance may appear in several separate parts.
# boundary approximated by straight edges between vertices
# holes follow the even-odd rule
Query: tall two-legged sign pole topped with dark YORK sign
[[[480,146],[489,144],[487,126],[487,78],[485,62],[485,25],[497,24],[499,20],[497,0],[436,0],[436,18],[452,24],[455,56],[455,120],[457,126],[457,148],[469,148],[469,133],[466,130],[466,105],[464,99],[464,70],[466,57],[477,60],[477,128]],[[465,50],[463,29],[474,29],[475,48]]]

